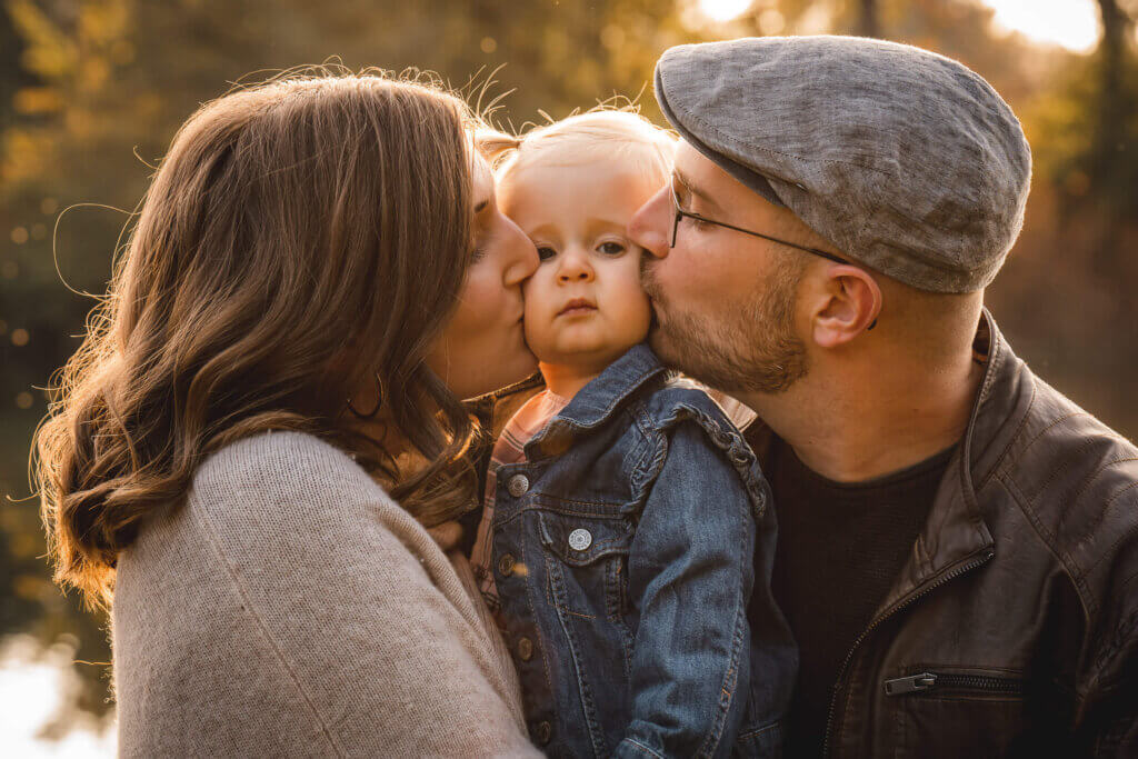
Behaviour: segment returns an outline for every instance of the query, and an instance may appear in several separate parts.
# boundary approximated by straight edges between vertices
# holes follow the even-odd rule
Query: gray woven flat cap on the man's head
[[[986,287],[1023,226],[1020,122],[943,56],[848,36],[682,44],[657,64],[655,96],[724,171],[915,288]]]

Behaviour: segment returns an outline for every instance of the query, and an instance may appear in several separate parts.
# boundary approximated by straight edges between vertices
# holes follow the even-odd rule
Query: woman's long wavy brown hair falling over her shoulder
[[[182,125],[36,437],[57,581],[109,604],[145,520],[270,429],[354,453],[423,523],[454,515],[471,421],[423,358],[470,262],[471,126],[429,84],[324,69]],[[413,475],[345,413],[371,376]]]

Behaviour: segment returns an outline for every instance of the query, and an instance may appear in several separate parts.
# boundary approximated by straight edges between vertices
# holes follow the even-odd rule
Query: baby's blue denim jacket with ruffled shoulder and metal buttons
[[[781,748],[798,652],[769,486],[723,410],[668,380],[635,346],[497,472],[492,566],[551,756]]]

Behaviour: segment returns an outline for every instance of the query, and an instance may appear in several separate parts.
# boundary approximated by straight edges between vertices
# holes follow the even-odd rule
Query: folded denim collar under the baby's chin
[[[569,405],[542,432],[534,436],[526,445],[526,457],[533,461],[543,453],[556,455],[567,446],[574,431],[604,423],[625,398],[666,372],[667,369],[646,344],[633,346],[578,390]]]

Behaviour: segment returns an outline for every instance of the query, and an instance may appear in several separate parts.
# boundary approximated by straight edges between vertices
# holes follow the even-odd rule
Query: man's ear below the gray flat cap
[[[838,264],[826,269],[824,296],[810,315],[814,341],[835,348],[874,328],[881,313],[881,288],[864,269]]]

